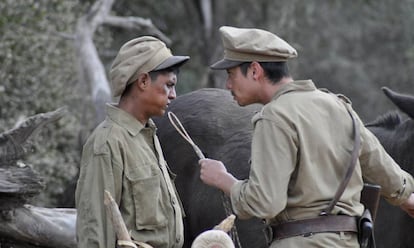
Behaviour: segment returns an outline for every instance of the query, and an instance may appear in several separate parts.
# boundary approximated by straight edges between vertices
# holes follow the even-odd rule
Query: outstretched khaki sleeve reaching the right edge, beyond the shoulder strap
[[[371,131],[362,128],[360,163],[364,180],[381,186],[381,194],[393,205],[401,205],[414,192],[413,177],[385,151]]]

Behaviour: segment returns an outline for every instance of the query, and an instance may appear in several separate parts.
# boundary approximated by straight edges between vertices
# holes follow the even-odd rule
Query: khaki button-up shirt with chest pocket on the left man
[[[84,145],[76,188],[78,247],[115,247],[104,206],[108,190],[134,240],[157,248],[182,247],[183,212],[152,120],[144,127],[107,105],[107,118]]]

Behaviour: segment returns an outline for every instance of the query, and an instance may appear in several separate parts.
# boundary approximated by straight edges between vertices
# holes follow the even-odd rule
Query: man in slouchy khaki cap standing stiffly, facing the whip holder
[[[106,119],[83,148],[76,188],[78,247],[117,245],[104,190],[118,204],[133,240],[157,248],[182,247],[181,202],[151,117],[162,116],[175,99],[178,68],[188,59],[173,56],[151,36],[121,47],[110,71],[119,103],[107,104]]]

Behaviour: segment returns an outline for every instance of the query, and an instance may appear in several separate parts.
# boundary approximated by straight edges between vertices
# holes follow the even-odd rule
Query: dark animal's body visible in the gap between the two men
[[[222,160],[228,171],[239,179],[249,175],[250,118],[259,109],[258,105],[239,107],[228,91],[220,89],[182,95],[169,107],[205,156]],[[199,233],[213,228],[226,217],[223,195],[200,181],[198,157],[169,119],[164,116],[155,122],[165,159],[177,174],[175,183],[187,215],[185,247],[190,247]],[[243,247],[267,247],[261,220],[236,219],[236,227]]]

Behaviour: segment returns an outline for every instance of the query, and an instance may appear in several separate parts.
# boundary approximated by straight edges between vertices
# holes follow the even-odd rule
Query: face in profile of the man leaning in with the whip
[[[239,66],[227,69],[226,71],[226,87],[231,91],[234,100],[236,100],[240,106],[255,103],[256,100],[253,97],[255,84],[250,68],[247,70],[246,76],[243,75]]]

